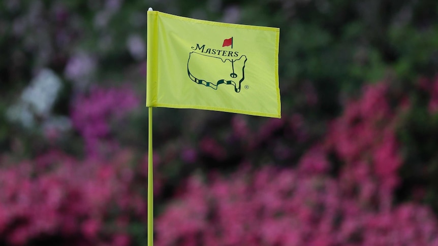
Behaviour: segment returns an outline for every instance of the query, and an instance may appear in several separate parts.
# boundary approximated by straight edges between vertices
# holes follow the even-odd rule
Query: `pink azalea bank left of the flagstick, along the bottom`
[[[131,245],[128,225],[146,221],[147,207],[147,163],[134,160],[127,151],[110,161],[57,151],[19,163],[3,156],[0,244]]]

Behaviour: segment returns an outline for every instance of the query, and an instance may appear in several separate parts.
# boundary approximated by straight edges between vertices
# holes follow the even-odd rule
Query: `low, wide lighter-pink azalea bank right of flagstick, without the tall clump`
[[[327,173],[309,172],[312,162],[302,160],[298,170],[242,168],[229,178],[210,177],[208,185],[190,178],[155,222],[155,244],[438,245],[427,207],[365,204]]]

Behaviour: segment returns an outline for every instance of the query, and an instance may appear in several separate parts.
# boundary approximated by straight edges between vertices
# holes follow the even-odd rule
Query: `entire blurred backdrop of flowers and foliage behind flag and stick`
[[[146,245],[146,12],[280,28],[281,119],[157,108],[155,245],[438,245],[435,0],[0,1],[0,245]]]

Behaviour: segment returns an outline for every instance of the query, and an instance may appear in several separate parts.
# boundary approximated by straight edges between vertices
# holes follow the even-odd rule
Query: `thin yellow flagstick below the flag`
[[[153,246],[153,165],[152,165],[152,107],[149,108],[147,152],[147,245]]]

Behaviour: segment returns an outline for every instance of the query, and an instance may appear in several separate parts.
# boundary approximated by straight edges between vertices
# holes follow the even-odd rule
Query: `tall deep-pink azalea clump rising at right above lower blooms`
[[[363,96],[350,101],[345,113],[332,122],[327,142],[343,163],[342,189],[359,193],[363,202],[378,201],[377,205],[389,209],[402,160],[387,90],[384,83],[366,86]]]

